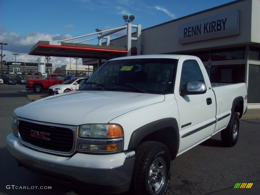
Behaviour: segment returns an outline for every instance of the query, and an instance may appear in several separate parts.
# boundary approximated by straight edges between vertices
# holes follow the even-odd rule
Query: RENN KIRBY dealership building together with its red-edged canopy
[[[259,10],[260,0],[237,0],[142,30],[141,25],[128,23],[112,31],[127,29],[127,35],[113,40],[108,30],[96,29],[89,35],[98,34],[99,45],[39,41],[29,54],[82,58],[83,65],[93,66],[93,71],[106,60],[126,55],[195,55],[211,82],[245,82],[248,107],[260,108]],[[131,33],[132,27],[136,32]]]

